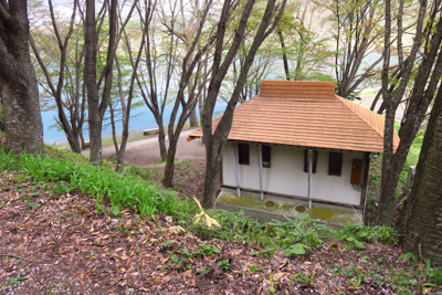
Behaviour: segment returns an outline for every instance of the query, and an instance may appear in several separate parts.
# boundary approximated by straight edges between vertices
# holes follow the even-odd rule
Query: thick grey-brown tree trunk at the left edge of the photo
[[[28,1],[0,1],[0,97],[7,151],[43,152],[39,87],[29,52]]]

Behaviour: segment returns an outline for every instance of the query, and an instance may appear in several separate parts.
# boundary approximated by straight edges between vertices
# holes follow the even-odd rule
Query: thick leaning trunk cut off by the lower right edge
[[[442,89],[439,89],[411,196],[407,200],[402,250],[430,259],[434,266],[442,266]]]

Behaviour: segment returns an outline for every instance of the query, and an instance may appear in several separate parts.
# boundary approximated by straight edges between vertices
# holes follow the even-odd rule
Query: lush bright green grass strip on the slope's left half
[[[73,156],[76,158],[77,156]],[[156,183],[146,182],[133,173],[115,173],[106,168],[70,161],[48,155],[7,154],[0,149],[0,169],[19,170],[35,182],[51,181],[59,192],[80,190],[96,199],[96,210],[105,211],[101,204],[110,201],[109,212],[118,214],[124,208],[136,208],[140,215],[149,218],[161,212],[177,215],[176,192],[161,190]]]

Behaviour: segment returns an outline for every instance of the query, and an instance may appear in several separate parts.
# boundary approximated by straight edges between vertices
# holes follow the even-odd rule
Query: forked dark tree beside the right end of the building
[[[394,130],[394,113],[406,92],[406,87],[414,64],[415,54],[421,44],[422,23],[425,9],[427,1],[422,1],[420,6],[419,22],[417,25],[417,35],[414,38],[410,56],[408,57],[410,60],[407,62],[404,71],[401,71],[401,81],[397,92],[394,93],[394,96],[391,97],[389,95],[388,83],[382,83],[386,123],[383,131],[385,143],[382,179],[378,221],[388,226],[392,224],[392,217],[397,202],[396,189],[398,187],[399,177],[403,165],[407,160],[407,155],[410,150],[415,134],[418,133],[419,127],[425,117],[428,107],[434,97],[438,82],[442,74],[442,51],[439,51],[442,41],[442,22],[439,20],[435,32],[432,36],[428,36],[431,41],[429,41],[429,45],[424,49],[425,59],[422,60],[418,67],[418,74],[414,77],[414,87],[410,97],[410,104],[407,109],[407,114],[404,115],[404,122],[399,130],[400,143],[396,154],[393,154],[392,138]],[[433,71],[431,71],[432,69]]]

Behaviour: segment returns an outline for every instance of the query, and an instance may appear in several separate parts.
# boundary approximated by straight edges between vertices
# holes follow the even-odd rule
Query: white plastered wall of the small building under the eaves
[[[260,189],[257,144],[249,143],[250,165],[238,165],[240,186]],[[305,147],[271,146],[271,167],[263,169],[264,191],[307,197],[308,173],[304,172]],[[360,192],[350,183],[352,159],[364,159],[364,152],[317,148],[316,173],[312,177],[312,198],[348,204],[360,204]],[[341,176],[328,175],[328,154],[343,152]],[[235,143],[238,161],[238,143]],[[231,141],[223,149],[223,185],[235,187]]]

